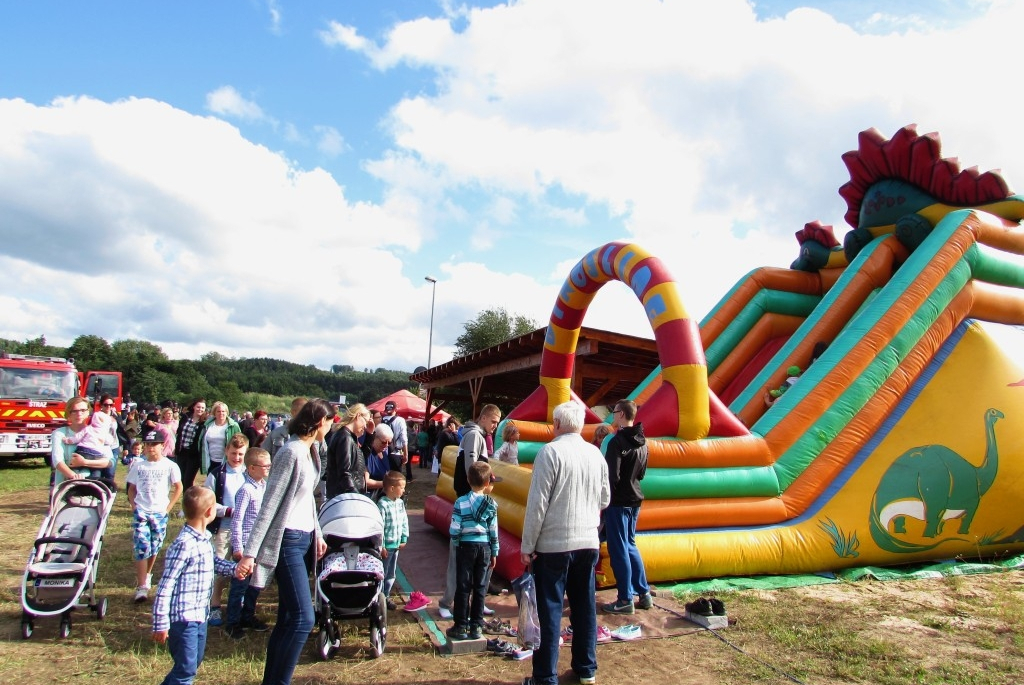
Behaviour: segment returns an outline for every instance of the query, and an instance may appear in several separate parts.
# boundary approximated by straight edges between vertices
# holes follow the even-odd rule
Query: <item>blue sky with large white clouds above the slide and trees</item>
[[[322,368],[547,323],[614,240],[694,317],[842,237],[840,156],[916,123],[1024,178],[1021,3],[0,4],[0,337]],[[650,336],[618,284],[587,326]]]

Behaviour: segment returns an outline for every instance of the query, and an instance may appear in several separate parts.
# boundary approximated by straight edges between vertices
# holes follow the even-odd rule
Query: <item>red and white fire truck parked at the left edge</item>
[[[67,423],[65,402],[81,395],[98,410],[99,397],[121,409],[121,373],[79,373],[75,359],[0,351],[0,459],[48,457],[50,434]]]

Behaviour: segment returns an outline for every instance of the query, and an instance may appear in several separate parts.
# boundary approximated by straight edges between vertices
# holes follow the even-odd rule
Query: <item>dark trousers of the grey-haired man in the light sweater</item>
[[[534,650],[534,680],[538,685],[558,684],[558,634],[565,597],[572,627],[572,671],[580,678],[593,678],[597,672],[597,550],[573,550],[538,553],[534,559],[537,617],[541,624],[541,645]]]

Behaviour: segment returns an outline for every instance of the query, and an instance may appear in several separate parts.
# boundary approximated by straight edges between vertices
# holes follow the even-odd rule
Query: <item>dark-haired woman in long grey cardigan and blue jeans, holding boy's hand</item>
[[[266,647],[263,685],[286,685],[313,629],[312,597],[305,556],[315,546],[316,558],[327,544],[316,519],[313,489],[319,482],[319,454],[335,410],[326,399],[311,399],[288,425],[292,438],[273,457],[263,504],[245,544],[236,575],[252,574],[254,588],[278,582],[278,622]]]

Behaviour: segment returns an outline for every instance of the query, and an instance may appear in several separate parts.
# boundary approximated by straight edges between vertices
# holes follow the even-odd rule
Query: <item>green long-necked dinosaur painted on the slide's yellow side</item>
[[[981,498],[995,482],[999,449],[995,442],[995,422],[1002,412],[985,412],[985,461],[974,466],[941,444],[913,447],[900,455],[882,476],[871,502],[871,538],[884,550],[903,553],[925,551],[943,542],[919,545],[905,542],[906,518],[924,521],[924,538],[936,538],[949,519],[959,519],[959,534],[971,529]],[[894,524],[893,532],[889,524]],[[894,534],[895,533],[895,534]]]

